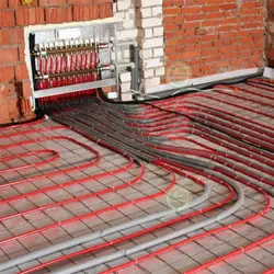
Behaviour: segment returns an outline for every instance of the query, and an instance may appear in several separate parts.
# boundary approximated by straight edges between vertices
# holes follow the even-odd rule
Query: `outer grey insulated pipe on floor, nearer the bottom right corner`
[[[238,209],[240,209],[243,202],[244,202],[244,192],[239,186],[239,184],[235,183],[235,182],[230,182],[230,183],[232,184],[233,189],[236,190],[236,192],[238,194],[238,199],[226,212],[224,212],[221,214],[218,214],[215,217],[209,218],[207,220],[204,220],[204,221],[194,224],[192,226],[189,226],[186,228],[183,228],[183,229],[176,230],[174,232],[171,232],[171,233],[169,233],[167,236],[159,237],[159,238],[157,238],[157,239],[155,239],[152,241],[145,242],[142,244],[138,244],[138,246],[136,246],[134,248],[130,248],[130,249],[127,249],[127,250],[117,251],[114,254],[110,254],[110,255],[98,258],[98,259],[94,259],[94,260],[91,260],[91,261],[87,261],[87,262],[83,262],[83,263],[78,264],[78,265],[72,265],[72,266],[69,266],[69,267],[65,267],[65,269],[61,269],[59,271],[53,272],[53,274],[73,274],[73,273],[77,273],[77,272],[80,272],[80,271],[83,271],[83,270],[94,267],[94,266],[96,266],[99,264],[104,264],[104,263],[107,263],[110,261],[117,260],[117,259],[123,258],[123,256],[129,256],[129,255],[132,255],[134,253],[137,253],[139,251],[144,251],[146,249],[152,248],[152,247],[161,244],[163,242],[171,241],[171,240],[173,240],[175,238],[182,237],[183,235],[193,232],[193,231],[198,230],[201,228],[204,228],[206,226],[210,226],[210,225],[215,224],[216,221],[220,221],[220,220],[229,217],[231,214],[233,214]]]

